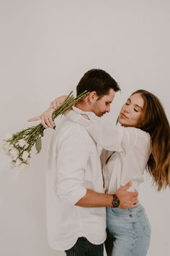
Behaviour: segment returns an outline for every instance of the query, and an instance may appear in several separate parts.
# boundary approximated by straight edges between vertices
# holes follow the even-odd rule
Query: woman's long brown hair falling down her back
[[[158,191],[170,185],[170,128],[164,107],[158,98],[147,90],[136,90],[145,103],[145,117],[140,129],[151,135],[151,155],[147,171]]]

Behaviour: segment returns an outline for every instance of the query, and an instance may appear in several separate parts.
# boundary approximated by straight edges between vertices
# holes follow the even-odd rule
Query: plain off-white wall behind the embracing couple
[[[122,88],[107,118],[115,120],[125,98],[139,88],[158,95],[170,116],[169,13],[169,0],[0,0],[0,139],[30,126],[28,118],[76,88],[91,68],[105,69]],[[1,256],[64,255],[48,247],[45,224],[51,132],[24,173],[11,169],[1,151]],[[169,189],[156,192],[146,176],[140,201],[152,226],[148,256],[169,255],[169,199]]]

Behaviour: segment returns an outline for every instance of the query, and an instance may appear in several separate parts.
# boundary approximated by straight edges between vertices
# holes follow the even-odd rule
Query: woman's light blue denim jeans
[[[107,228],[112,243],[105,243],[108,256],[146,256],[151,237],[151,226],[145,209],[107,208]],[[109,249],[112,247],[112,252]]]

